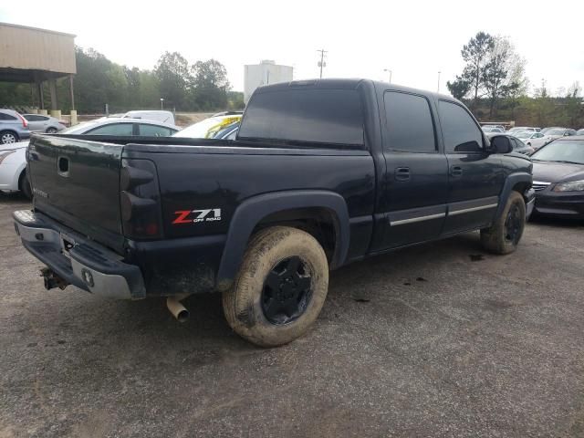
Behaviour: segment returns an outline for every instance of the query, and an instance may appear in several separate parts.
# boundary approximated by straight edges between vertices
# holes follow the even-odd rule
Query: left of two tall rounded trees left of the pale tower
[[[183,108],[187,85],[192,80],[187,60],[178,52],[164,52],[154,72],[160,81],[160,97],[169,106]]]

